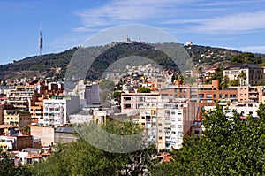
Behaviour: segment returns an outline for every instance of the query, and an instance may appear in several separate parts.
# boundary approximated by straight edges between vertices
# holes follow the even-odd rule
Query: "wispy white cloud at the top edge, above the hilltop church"
[[[196,0],[197,1],[197,0]],[[74,31],[83,31],[89,27],[116,26],[128,23],[141,23],[152,19],[168,19],[175,16],[178,5],[194,0],[114,0],[94,9],[85,9],[77,12],[81,20],[81,27]]]

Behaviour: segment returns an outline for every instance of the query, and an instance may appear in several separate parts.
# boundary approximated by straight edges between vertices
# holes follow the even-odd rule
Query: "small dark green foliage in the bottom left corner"
[[[30,175],[30,172],[27,166],[15,166],[14,159],[11,157],[11,155],[0,148],[0,175],[28,176]]]

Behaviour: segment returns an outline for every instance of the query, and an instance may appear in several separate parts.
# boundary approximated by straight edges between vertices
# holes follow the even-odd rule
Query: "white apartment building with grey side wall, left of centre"
[[[64,126],[69,123],[69,115],[79,111],[79,96],[51,96],[43,100],[42,126]]]

